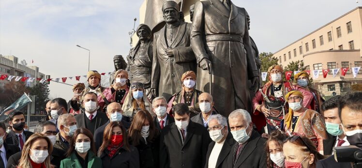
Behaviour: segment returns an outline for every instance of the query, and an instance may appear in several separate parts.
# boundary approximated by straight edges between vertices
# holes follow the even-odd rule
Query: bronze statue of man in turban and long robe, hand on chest
[[[166,25],[154,34],[151,90],[154,96],[169,99],[181,90],[181,76],[196,71],[190,47],[191,24],[181,22],[179,5],[172,0],[162,6]]]

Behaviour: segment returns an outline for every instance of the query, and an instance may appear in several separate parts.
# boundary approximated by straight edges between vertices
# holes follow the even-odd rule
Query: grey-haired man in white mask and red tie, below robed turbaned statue
[[[158,130],[162,130],[165,126],[174,123],[175,119],[170,117],[169,114],[166,113],[167,103],[166,98],[157,97],[152,100],[152,111],[157,115],[154,118],[154,125]]]

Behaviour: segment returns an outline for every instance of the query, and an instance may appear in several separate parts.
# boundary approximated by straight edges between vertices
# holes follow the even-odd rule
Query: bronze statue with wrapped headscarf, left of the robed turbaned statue
[[[140,24],[136,29],[139,41],[127,56],[127,71],[131,83],[142,83],[146,95],[151,99],[152,42],[151,28]]]

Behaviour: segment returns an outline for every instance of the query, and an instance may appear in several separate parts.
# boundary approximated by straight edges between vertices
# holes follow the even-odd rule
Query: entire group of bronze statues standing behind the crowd
[[[197,1],[187,23],[179,4],[168,0],[162,12],[166,25],[161,30],[152,34],[144,24],[136,30],[139,41],[127,56],[129,80],[143,83],[150,99],[168,99],[181,90],[182,73],[193,70],[196,89],[211,92],[222,115],[250,111],[250,97],[260,84],[260,60],[246,10],[231,0]],[[120,67],[125,68],[116,65],[116,70]]]

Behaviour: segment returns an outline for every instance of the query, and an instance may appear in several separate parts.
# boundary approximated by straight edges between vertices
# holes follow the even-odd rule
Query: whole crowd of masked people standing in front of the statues
[[[150,100],[125,70],[109,88],[89,71],[88,87],[75,84],[69,102],[50,100],[34,132],[20,111],[9,131],[0,123],[0,168],[351,168],[332,149],[362,147],[362,93],[324,102],[307,72],[295,82],[283,81],[278,65],[268,72],[254,112],[222,116],[217,99],[195,89],[193,71],[169,100]]]

